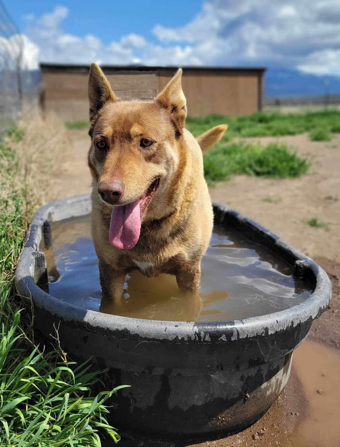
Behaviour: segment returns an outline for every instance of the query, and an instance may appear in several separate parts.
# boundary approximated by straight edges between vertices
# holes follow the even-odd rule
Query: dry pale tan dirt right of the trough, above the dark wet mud
[[[286,142],[312,161],[311,173],[294,179],[235,176],[210,189],[211,198],[255,219],[310,257],[340,261],[340,135],[331,142],[308,135],[251,139]],[[263,202],[271,198],[274,202]],[[304,222],[317,217],[327,228]]]

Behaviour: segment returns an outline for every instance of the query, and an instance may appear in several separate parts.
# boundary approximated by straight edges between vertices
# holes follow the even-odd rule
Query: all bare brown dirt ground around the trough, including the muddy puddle
[[[89,192],[86,131],[68,131],[67,163],[53,179],[48,200]],[[200,444],[137,439],[123,434],[127,447],[339,447],[340,391],[340,135],[331,142],[312,142],[307,135],[252,139],[285,141],[312,161],[311,173],[296,179],[269,180],[233,177],[210,189],[212,200],[257,220],[284,240],[314,258],[333,285],[330,308],[314,321],[308,341],[294,353],[293,370],[285,391],[270,411],[252,427],[225,439]],[[262,201],[271,198],[272,202]],[[316,217],[327,228],[305,221]],[[331,409],[331,410],[330,410]],[[110,444],[111,445],[111,444]]]

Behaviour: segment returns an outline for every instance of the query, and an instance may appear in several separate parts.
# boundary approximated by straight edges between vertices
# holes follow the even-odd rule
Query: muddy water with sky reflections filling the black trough
[[[174,276],[147,278],[133,270],[121,299],[102,299],[90,217],[52,228],[47,256],[49,293],[70,304],[153,320],[216,321],[264,315],[305,300],[312,286],[263,245],[232,229],[215,228],[201,267],[199,293],[181,292]]]

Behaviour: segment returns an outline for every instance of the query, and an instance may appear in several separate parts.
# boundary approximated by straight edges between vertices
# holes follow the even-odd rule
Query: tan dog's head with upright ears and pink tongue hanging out
[[[181,75],[179,69],[153,101],[120,101],[98,65],[90,67],[89,167],[98,200],[112,209],[116,248],[136,245],[141,220],[155,217],[153,196],[164,197],[181,162],[187,116]]]

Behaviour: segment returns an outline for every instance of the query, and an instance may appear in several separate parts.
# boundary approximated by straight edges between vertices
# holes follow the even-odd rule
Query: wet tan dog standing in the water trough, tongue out
[[[90,67],[92,235],[106,297],[121,296],[133,269],[148,277],[170,273],[181,289],[199,288],[213,220],[202,150],[227,126],[198,141],[184,128],[181,75],[153,101],[120,101],[98,65]]]

